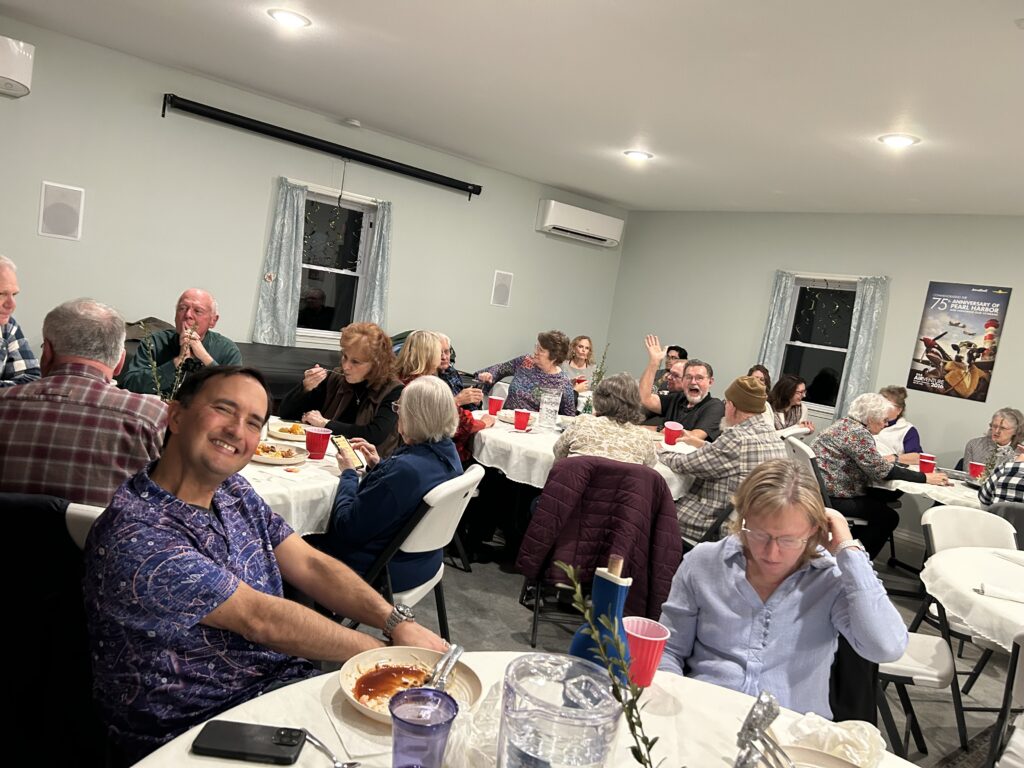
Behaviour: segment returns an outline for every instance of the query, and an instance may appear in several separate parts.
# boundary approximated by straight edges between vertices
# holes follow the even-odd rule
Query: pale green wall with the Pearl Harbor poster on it
[[[1022,217],[634,212],[609,368],[639,374],[643,335],[657,333],[710,361],[721,394],[758,361],[775,269],[892,279],[879,386],[906,382],[929,281],[1014,287],[987,402],[911,391],[907,415],[951,466],[993,411],[1024,409]]]

